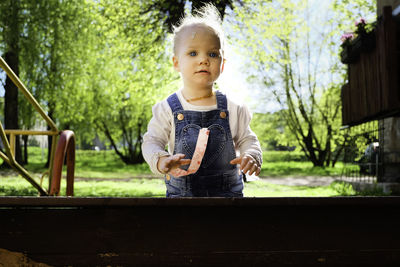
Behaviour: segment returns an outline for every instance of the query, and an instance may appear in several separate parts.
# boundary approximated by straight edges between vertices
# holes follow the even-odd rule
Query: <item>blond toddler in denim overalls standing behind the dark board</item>
[[[174,29],[172,61],[183,88],[154,105],[142,145],[151,170],[165,175],[167,197],[242,197],[241,172],[260,173],[249,110],[213,90],[224,69],[223,44],[221,19],[210,4]]]

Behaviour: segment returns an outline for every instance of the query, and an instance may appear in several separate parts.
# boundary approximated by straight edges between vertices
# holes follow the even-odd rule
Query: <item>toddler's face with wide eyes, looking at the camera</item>
[[[188,26],[178,38],[174,68],[185,87],[210,88],[223,71],[224,61],[218,36],[203,25]]]

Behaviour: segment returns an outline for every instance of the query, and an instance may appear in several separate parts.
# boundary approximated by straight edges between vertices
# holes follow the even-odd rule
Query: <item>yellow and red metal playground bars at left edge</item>
[[[23,93],[29,103],[35,108],[41,117],[50,127],[49,131],[34,131],[34,130],[19,130],[19,129],[4,129],[0,123],[0,138],[3,143],[5,153],[0,151],[0,157],[17,171],[23,178],[31,183],[41,196],[58,196],[60,193],[60,184],[62,177],[62,168],[64,160],[67,163],[67,196],[73,195],[74,187],[74,169],[75,169],[75,135],[70,130],[59,131],[53,120],[47,116],[42,107],[28,91],[25,85],[7,65],[5,60],[0,57],[0,67],[6,72],[7,76],[17,86],[20,92]],[[9,139],[7,139],[7,135]],[[48,135],[52,137],[52,146],[50,152],[50,164],[47,172],[43,176],[49,176],[48,190],[43,188],[32,175],[15,160],[15,138],[18,135]],[[57,145],[56,145],[57,144]],[[42,177],[43,177],[42,176]]]

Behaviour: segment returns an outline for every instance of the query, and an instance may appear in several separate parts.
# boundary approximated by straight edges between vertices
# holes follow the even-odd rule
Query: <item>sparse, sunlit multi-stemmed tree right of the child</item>
[[[241,44],[254,60],[255,75],[281,104],[287,129],[314,166],[334,166],[344,146],[340,88],[346,77],[337,41],[341,33],[335,28],[336,17],[326,10],[313,20],[306,0],[247,1],[244,8],[235,8],[244,36]]]

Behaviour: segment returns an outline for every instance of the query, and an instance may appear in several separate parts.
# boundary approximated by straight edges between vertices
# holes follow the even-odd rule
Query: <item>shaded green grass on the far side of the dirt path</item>
[[[343,164],[338,162],[335,168],[313,167],[305,161],[301,152],[266,151],[263,153],[263,166],[260,176],[339,176]],[[30,172],[43,173],[45,159],[37,147],[29,148]],[[141,175],[152,175],[146,163],[126,165],[112,150],[108,151],[76,151],[75,176],[85,178],[132,178]]]

